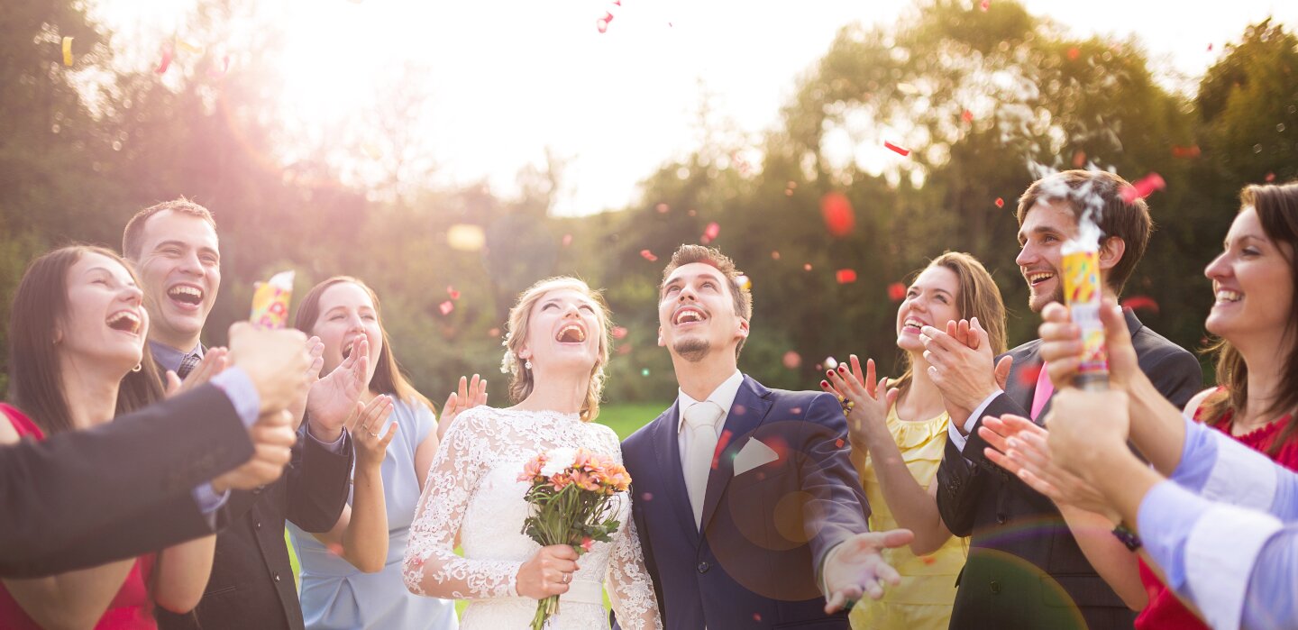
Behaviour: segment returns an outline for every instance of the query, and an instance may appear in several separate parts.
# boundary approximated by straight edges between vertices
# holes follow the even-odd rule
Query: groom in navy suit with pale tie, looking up
[[[622,444],[665,627],[846,630],[844,604],[897,583],[879,549],[911,535],[867,533],[833,396],[768,390],[739,372],[753,313],[739,278],[713,248],[671,257],[658,343],[680,392]]]

